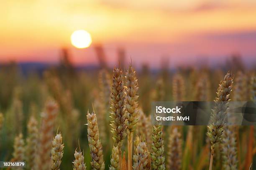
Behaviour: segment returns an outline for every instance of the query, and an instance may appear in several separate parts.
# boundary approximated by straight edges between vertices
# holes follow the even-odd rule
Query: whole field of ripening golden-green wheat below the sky
[[[0,160],[27,170],[256,170],[255,127],[216,123],[228,109],[218,101],[256,100],[255,71],[62,63],[24,76],[3,65]],[[216,101],[212,124],[152,124],[153,101]]]

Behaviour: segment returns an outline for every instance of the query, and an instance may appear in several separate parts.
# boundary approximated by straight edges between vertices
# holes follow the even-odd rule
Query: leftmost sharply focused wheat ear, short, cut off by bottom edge
[[[62,143],[61,133],[56,134],[52,141],[51,148],[51,170],[59,170],[61,158],[63,157],[64,144]]]

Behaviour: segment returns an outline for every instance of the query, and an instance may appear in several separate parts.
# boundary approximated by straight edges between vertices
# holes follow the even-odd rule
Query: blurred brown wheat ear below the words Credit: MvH
[[[180,170],[182,163],[182,135],[178,127],[173,127],[169,135],[167,169]]]

